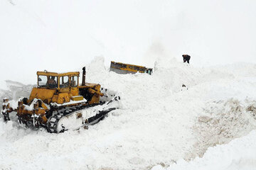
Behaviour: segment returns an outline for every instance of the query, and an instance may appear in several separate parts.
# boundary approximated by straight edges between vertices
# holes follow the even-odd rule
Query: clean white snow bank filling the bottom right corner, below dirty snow
[[[218,145],[208,148],[202,158],[191,162],[179,160],[171,164],[166,170],[252,170],[256,167],[256,131],[249,135],[235,139],[228,145]],[[154,166],[151,170],[164,170],[161,165]]]

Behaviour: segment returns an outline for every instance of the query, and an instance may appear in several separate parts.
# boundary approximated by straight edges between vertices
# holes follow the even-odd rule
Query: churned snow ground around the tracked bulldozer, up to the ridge
[[[202,160],[216,169],[247,162],[255,167],[255,157],[250,157],[256,145],[252,131],[256,127],[255,64],[195,68],[172,58],[159,58],[150,76],[109,72],[104,58],[96,57],[86,68],[86,81],[117,91],[122,107],[88,130],[61,134],[50,134],[43,128],[23,129],[15,122],[1,120],[0,168],[208,167]],[[11,91],[2,93],[13,96]],[[233,140],[238,137],[244,138]],[[240,155],[245,153],[240,146],[252,149]],[[220,157],[233,163],[223,159],[217,166],[215,161]]]

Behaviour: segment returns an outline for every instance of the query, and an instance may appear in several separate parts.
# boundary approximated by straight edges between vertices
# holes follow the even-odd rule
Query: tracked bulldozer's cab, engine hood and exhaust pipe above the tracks
[[[79,84],[79,74],[80,72],[37,72],[38,87],[32,89],[28,102],[38,98],[47,104],[63,104],[85,98],[89,104],[99,103],[100,96],[103,96],[100,84]],[[82,79],[85,81],[85,72]]]

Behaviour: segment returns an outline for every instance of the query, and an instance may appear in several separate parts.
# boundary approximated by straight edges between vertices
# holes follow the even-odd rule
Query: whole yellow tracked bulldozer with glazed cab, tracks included
[[[120,98],[112,94],[107,96],[107,89],[102,89],[100,84],[85,83],[85,74],[83,67],[82,84],[79,84],[80,72],[37,72],[37,87],[32,89],[29,98],[18,100],[17,108],[11,106],[9,98],[4,98],[4,120],[10,120],[9,113],[16,111],[19,124],[43,127],[55,133],[99,122],[119,107]],[[100,101],[101,96],[110,99]],[[88,114],[87,110],[94,114]]]

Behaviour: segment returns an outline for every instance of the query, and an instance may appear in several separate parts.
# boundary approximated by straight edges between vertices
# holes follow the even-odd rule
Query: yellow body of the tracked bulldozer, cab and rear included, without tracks
[[[17,115],[26,119],[26,115],[40,115],[43,123],[47,122],[46,113],[50,111],[50,105],[57,105],[61,108],[78,105],[89,105],[100,103],[100,84],[85,83],[79,84],[80,72],[37,72],[38,86],[31,91],[29,98],[18,101]],[[41,78],[46,79],[47,83],[41,86]],[[54,87],[50,87],[48,81],[50,77],[55,78]],[[66,83],[61,84],[61,77],[65,77]],[[74,80],[75,77],[75,80]],[[73,102],[72,102],[73,101]],[[81,101],[81,102],[79,102]],[[7,108],[7,107],[6,107]],[[11,111],[11,110],[10,110]]]

